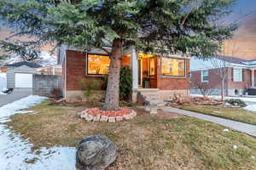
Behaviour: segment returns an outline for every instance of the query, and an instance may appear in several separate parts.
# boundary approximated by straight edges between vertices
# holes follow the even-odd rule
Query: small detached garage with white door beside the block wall
[[[41,65],[27,61],[5,66],[8,67],[6,72],[7,88],[32,88],[32,75],[41,74],[40,71],[37,71]]]

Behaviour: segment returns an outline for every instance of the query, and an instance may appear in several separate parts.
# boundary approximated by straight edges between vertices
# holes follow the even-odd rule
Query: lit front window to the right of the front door
[[[162,58],[162,75],[185,77],[185,59]]]

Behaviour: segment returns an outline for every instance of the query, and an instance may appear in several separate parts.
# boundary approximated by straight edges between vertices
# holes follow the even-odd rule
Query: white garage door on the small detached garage
[[[32,88],[32,74],[15,73],[15,88]]]

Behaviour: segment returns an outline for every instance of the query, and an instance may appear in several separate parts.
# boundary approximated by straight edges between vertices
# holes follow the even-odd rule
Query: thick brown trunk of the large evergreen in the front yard
[[[108,75],[108,86],[105,97],[105,104],[102,107],[104,111],[119,110],[119,77],[122,57],[122,41],[114,39],[112,51],[110,54],[110,65]]]

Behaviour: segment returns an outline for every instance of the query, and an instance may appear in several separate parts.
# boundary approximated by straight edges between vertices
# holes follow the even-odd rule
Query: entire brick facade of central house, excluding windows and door
[[[189,89],[189,59],[186,59],[186,74],[185,77],[164,77],[161,75],[161,65],[159,65],[160,57],[156,58],[155,68],[156,76],[150,77],[150,87],[159,88],[163,94],[168,95],[166,99],[170,98],[171,94],[188,94]],[[123,57],[121,65],[130,66],[130,55]],[[148,62],[145,62],[148,63]],[[66,70],[65,70],[66,65]],[[145,66],[145,68],[147,68]],[[69,96],[81,95],[81,85],[79,80],[102,80],[104,76],[86,75],[86,53],[67,50],[66,59],[62,63],[64,75],[64,90],[67,98]],[[66,78],[66,80],[65,80]]]

